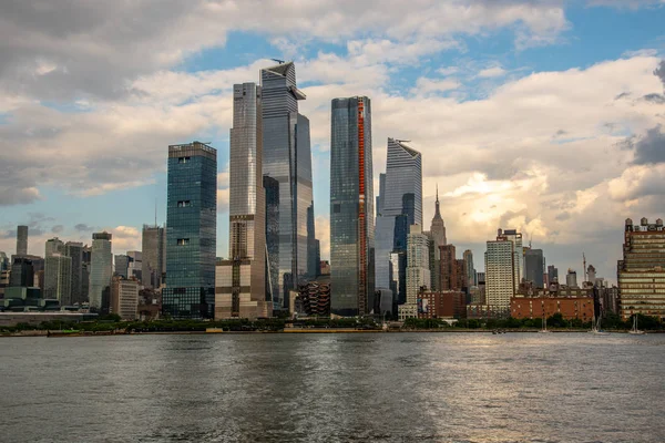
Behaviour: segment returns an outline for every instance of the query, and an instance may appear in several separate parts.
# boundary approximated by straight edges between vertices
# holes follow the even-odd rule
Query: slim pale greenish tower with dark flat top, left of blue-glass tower
[[[101,312],[109,311],[111,278],[113,277],[113,254],[109,233],[92,234],[92,254],[90,258],[90,308]]]

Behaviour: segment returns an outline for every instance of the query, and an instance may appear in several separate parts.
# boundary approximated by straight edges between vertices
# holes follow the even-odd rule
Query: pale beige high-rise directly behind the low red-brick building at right
[[[497,240],[488,241],[485,253],[485,300],[503,310],[520,287],[521,234],[499,229]]]

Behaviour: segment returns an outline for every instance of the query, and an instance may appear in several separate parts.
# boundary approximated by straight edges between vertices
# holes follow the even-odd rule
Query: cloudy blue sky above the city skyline
[[[234,83],[294,60],[311,122],[317,237],[329,256],[330,101],[372,101],[423,157],[448,240],[515,228],[560,274],[616,280],[627,217],[665,215],[665,0],[6,0],[0,3],[0,251],[113,234],[141,249],[166,222],[170,144],[218,150],[228,248]]]

